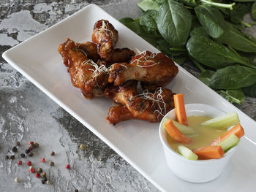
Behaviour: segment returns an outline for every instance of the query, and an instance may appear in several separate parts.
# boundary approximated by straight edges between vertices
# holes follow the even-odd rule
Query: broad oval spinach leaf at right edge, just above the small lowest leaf
[[[210,87],[236,89],[248,87],[256,82],[256,69],[246,66],[227,66],[217,70],[211,77]]]

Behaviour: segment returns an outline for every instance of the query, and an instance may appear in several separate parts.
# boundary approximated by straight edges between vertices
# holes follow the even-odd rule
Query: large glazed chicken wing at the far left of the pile
[[[72,84],[80,88],[83,96],[92,99],[94,96],[104,96],[104,88],[108,84],[108,75],[102,73],[95,76],[95,67],[86,55],[78,50],[75,42],[67,39],[59,45],[59,53],[67,66]]]

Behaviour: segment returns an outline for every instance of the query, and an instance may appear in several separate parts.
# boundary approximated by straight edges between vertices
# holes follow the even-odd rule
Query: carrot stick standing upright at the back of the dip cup
[[[184,98],[183,94],[173,95],[174,106],[176,111],[176,120],[178,123],[184,124],[185,126],[189,126],[187,123],[187,115],[185,110]]]

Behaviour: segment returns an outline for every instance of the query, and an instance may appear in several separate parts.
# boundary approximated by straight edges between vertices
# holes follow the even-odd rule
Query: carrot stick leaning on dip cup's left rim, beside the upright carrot
[[[168,134],[170,134],[170,137],[172,137],[177,142],[183,142],[185,144],[189,144],[192,142],[192,139],[187,137],[186,135],[182,134],[181,131],[174,126],[172,120],[167,120],[165,122],[165,129]]]

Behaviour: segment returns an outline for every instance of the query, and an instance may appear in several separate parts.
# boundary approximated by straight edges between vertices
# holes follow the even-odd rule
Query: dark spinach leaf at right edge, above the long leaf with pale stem
[[[224,43],[236,50],[249,53],[256,53],[256,41],[247,38],[244,33],[238,31],[231,23],[226,22],[227,31],[217,39],[217,42]]]

